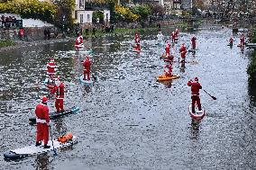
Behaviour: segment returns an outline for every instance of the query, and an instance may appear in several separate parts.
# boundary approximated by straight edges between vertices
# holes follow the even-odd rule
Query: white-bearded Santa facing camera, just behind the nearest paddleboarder
[[[64,93],[65,85],[60,81],[60,76],[57,77],[53,89],[50,91],[51,94],[55,95],[55,108],[57,112],[64,112]]]

